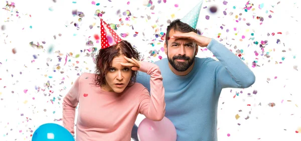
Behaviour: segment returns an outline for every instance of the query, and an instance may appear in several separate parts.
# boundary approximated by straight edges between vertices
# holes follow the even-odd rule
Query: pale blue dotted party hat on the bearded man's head
[[[196,29],[202,5],[203,0],[201,0],[201,2],[198,5],[196,5],[188,14],[186,14],[181,19],[181,22],[186,23],[192,28]]]

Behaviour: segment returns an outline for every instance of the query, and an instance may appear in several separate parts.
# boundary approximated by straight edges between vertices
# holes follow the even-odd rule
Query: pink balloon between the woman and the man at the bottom
[[[176,141],[176,127],[167,117],[161,121],[144,118],[138,126],[138,139],[139,141]]]

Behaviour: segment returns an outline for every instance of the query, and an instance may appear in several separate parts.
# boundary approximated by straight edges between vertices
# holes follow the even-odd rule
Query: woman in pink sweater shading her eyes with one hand
[[[140,62],[138,52],[127,41],[101,49],[96,73],[83,73],[73,83],[63,102],[63,124],[76,140],[127,140],[138,113],[160,121],[165,115],[164,87],[159,67]],[[134,83],[137,70],[150,75],[150,94]]]

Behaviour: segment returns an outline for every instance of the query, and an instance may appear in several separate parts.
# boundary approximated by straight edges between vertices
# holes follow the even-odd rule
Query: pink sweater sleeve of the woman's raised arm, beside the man
[[[165,116],[165,98],[163,78],[156,64],[141,62],[140,71],[150,75],[150,95],[145,88],[139,95],[139,113],[154,121],[160,121]]]

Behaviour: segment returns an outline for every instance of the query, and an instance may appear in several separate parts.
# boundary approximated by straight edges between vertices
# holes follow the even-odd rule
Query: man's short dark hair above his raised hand
[[[193,29],[191,26],[189,26],[186,23],[183,23],[180,21],[180,19],[176,19],[174,20],[168,27],[167,27],[167,31],[166,31],[166,40],[165,43],[166,45],[168,45],[168,40],[170,39],[169,37],[169,33],[170,31],[174,29],[175,31],[179,31],[182,33],[189,33],[189,32],[195,32],[197,33],[196,29]]]

